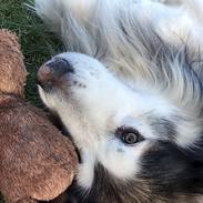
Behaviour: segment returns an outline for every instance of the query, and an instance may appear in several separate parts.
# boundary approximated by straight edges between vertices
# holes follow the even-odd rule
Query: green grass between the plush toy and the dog
[[[37,92],[35,72],[40,64],[60,52],[62,45],[26,3],[32,3],[32,1],[0,0],[0,28],[10,29],[19,35],[29,72],[26,98],[32,104],[42,106]],[[1,197],[0,203],[3,203]]]

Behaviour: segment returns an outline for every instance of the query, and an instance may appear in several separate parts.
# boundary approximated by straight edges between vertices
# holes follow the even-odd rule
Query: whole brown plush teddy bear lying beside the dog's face
[[[27,71],[14,34],[0,31],[0,192],[8,203],[53,200],[72,183],[77,153],[39,109],[23,101]]]

